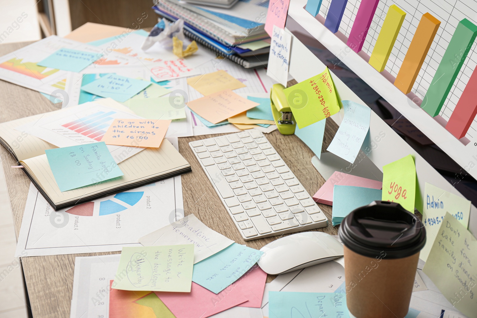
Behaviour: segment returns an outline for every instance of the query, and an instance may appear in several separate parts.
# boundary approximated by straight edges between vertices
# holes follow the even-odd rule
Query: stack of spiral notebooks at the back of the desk
[[[167,20],[184,20],[188,38],[248,69],[268,63],[267,4],[239,0],[230,9],[223,9],[159,0],[153,9]]]

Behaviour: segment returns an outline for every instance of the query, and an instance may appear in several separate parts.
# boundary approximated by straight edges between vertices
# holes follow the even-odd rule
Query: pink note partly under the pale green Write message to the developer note
[[[155,293],[176,318],[206,318],[248,300],[238,285],[230,285],[217,295],[194,282],[190,293]]]

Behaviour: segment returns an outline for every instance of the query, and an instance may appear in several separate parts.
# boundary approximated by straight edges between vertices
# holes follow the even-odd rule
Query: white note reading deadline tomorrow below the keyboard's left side
[[[143,236],[138,241],[144,246],[193,244],[194,264],[234,243],[207,227],[193,214]]]

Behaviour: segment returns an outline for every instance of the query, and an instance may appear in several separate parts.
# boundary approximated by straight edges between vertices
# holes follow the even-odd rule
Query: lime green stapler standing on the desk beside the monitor
[[[295,133],[295,119],[291,113],[290,105],[283,90],[282,84],[274,84],[270,92],[271,112],[277,125],[278,131],[284,135]]]

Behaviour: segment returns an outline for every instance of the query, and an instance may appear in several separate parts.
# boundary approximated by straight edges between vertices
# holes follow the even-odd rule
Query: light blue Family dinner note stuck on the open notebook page
[[[124,175],[104,142],[45,150],[60,191]]]

